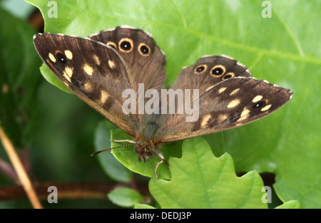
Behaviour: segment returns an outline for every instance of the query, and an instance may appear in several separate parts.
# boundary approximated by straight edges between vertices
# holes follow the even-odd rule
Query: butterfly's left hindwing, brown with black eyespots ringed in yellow
[[[165,56],[151,35],[138,28],[118,26],[89,38],[115,48],[128,69],[131,87],[161,90],[165,81]]]

